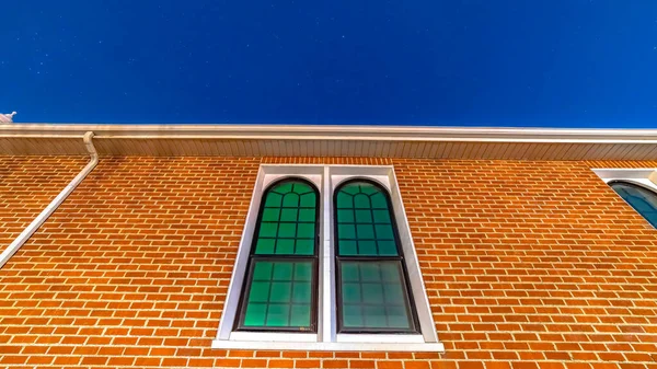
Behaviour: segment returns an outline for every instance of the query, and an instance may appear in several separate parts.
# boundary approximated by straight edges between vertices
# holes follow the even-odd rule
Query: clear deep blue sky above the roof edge
[[[3,1],[16,122],[657,127],[656,0]]]

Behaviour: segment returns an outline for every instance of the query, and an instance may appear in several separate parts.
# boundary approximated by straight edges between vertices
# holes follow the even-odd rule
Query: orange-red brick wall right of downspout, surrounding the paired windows
[[[395,165],[446,354],[211,350],[261,159],[114,158],[0,269],[0,366],[657,367],[657,231],[590,171],[657,163],[262,161]]]

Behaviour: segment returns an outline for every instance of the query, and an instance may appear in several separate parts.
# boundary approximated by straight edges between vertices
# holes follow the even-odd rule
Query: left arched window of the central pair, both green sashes
[[[237,330],[316,332],[319,201],[301,178],[264,192]]]

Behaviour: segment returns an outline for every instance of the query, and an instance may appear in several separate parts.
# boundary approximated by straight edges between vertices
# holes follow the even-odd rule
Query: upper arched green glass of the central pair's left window
[[[300,181],[267,191],[255,240],[256,255],[313,255],[316,238],[316,193]]]

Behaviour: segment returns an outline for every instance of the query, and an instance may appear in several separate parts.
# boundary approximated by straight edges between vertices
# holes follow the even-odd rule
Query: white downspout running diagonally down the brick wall
[[[78,187],[78,185],[84,180],[84,177],[93,171],[99,163],[99,153],[92,142],[93,132],[88,131],[84,134],[84,147],[89,152],[90,160],[87,166],[53,199],[53,201],[36,217],[27,228],[0,254],[0,268],[7,264],[9,258],[21,249],[21,246],[27,242],[27,240],[36,232],[36,230],[57,210],[59,205],[66,200],[66,198]]]

